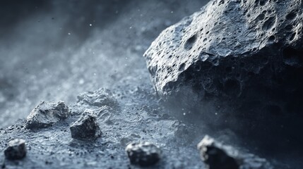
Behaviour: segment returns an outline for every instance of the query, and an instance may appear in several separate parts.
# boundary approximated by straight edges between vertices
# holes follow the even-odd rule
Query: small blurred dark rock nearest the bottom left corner
[[[4,155],[8,160],[20,160],[26,156],[26,146],[24,139],[13,139],[8,142]]]

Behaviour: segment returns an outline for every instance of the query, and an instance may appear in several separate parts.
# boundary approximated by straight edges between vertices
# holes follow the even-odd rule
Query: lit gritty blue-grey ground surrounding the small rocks
[[[97,92],[99,90],[93,92],[96,97]],[[97,115],[96,122],[102,129],[102,137],[97,137],[93,142],[73,139],[69,131],[69,126],[81,118],[87,109],[85,103],[69,105],[69,118],[52,127],[28,130],[24,127],[25,120],[21,120],[16,125],[1,129],[3,137],[0,147],[4,147],[11,137],[17,136],[26,139],[28,146],[27,158],[18,163],[6,161],[6,168],[140,168],[140,165],[131,165],[125,148],[129,142],[144,140],[162,147],[161,160],[154,165],[155,168],[204,168],[196,150],[201,138],[192,137],[190,141],[183,138],[186,134],[182,131],[189,130],[191,124],[170,115],[158,103],[150,86],[117,90],[113,96],[121,109],[102,111]],[[90,111],[98,112],[100,107],[91,106]],[[202,130],[192,132],[197,135],[204,133]],[[191,156],[184,152],[191,152]],[[3,155],[0,154],[0,159]]]

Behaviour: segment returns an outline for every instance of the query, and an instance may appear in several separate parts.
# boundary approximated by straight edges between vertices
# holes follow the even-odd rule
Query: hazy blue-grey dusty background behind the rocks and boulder
[[[145,49],[206,3],[0,1],[0,127],[26,118],[40,101],[70,104],[99,87],[151,87]]]

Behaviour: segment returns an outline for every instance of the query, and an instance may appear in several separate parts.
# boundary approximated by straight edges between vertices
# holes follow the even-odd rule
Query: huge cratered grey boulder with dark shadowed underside
[[[210,1],[145,51],[156,91],[167,99],[189,87],[203,98],[251,101],[260,93],[256,101],[287,99],[286,108],[297,107],[303,93],[302,6],[300,0]]]

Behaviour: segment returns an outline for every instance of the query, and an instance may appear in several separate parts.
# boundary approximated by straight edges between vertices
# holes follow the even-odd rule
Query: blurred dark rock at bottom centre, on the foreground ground
[[[158,163],[161,150],[150,142],[131,143],[125,149],[131,164],[149,166]]]

